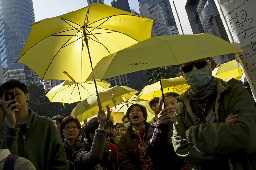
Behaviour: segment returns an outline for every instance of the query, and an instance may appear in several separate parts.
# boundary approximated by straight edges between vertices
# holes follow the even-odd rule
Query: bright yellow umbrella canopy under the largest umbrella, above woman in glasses
[[[110,83],[104,80],[96,80],[96,85],[98,91],[108,89]],[[74,103],[77,101],[82,101],[85,98],[96,93],[94,81],[88,81],[85,83],[73,83],[72,81],[64,81],[60,85],[52,88],[46,97],[51,102],[59,103]]]

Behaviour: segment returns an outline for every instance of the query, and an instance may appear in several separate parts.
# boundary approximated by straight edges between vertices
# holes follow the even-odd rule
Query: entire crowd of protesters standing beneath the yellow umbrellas
[[[0,87],[0,169],[255,170],[255,102],[239,81],[212,76],[214,66],[212,57],[181,64],[187,91],[153,98],[149,122],[131,105],[116,128],[103,110],[83,127],[75,116],[37,115],[27,86],[9,80]]]

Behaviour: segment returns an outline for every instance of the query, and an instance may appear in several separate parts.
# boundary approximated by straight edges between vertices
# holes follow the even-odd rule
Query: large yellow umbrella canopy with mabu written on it
[[[151,37],[102,58],[87,80],[105,79],[241,51],[243,50],[208,33]]]

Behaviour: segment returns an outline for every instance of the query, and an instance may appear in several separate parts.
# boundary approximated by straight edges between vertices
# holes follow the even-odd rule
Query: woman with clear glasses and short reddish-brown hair
[[[67,156],[68,169],[74,169],[74,158],[72,150],[83,146],[78,140],[81,135],[81,126],[79,120],[75,116],[65,117],[60,124],[60,134],[64,136],[64,148]]]

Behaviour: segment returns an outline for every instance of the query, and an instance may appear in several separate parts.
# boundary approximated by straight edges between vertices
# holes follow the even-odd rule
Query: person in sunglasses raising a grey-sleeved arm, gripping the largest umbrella
[[[73,151],[77,170],[118,169],[117,149],[109,149],[110,137],[113,135],[110,133],[111,123],[108,120],[105,121],[105,119],[105,112],[100,110],[97,117],[92,118],[85,124],[86,145]]]

